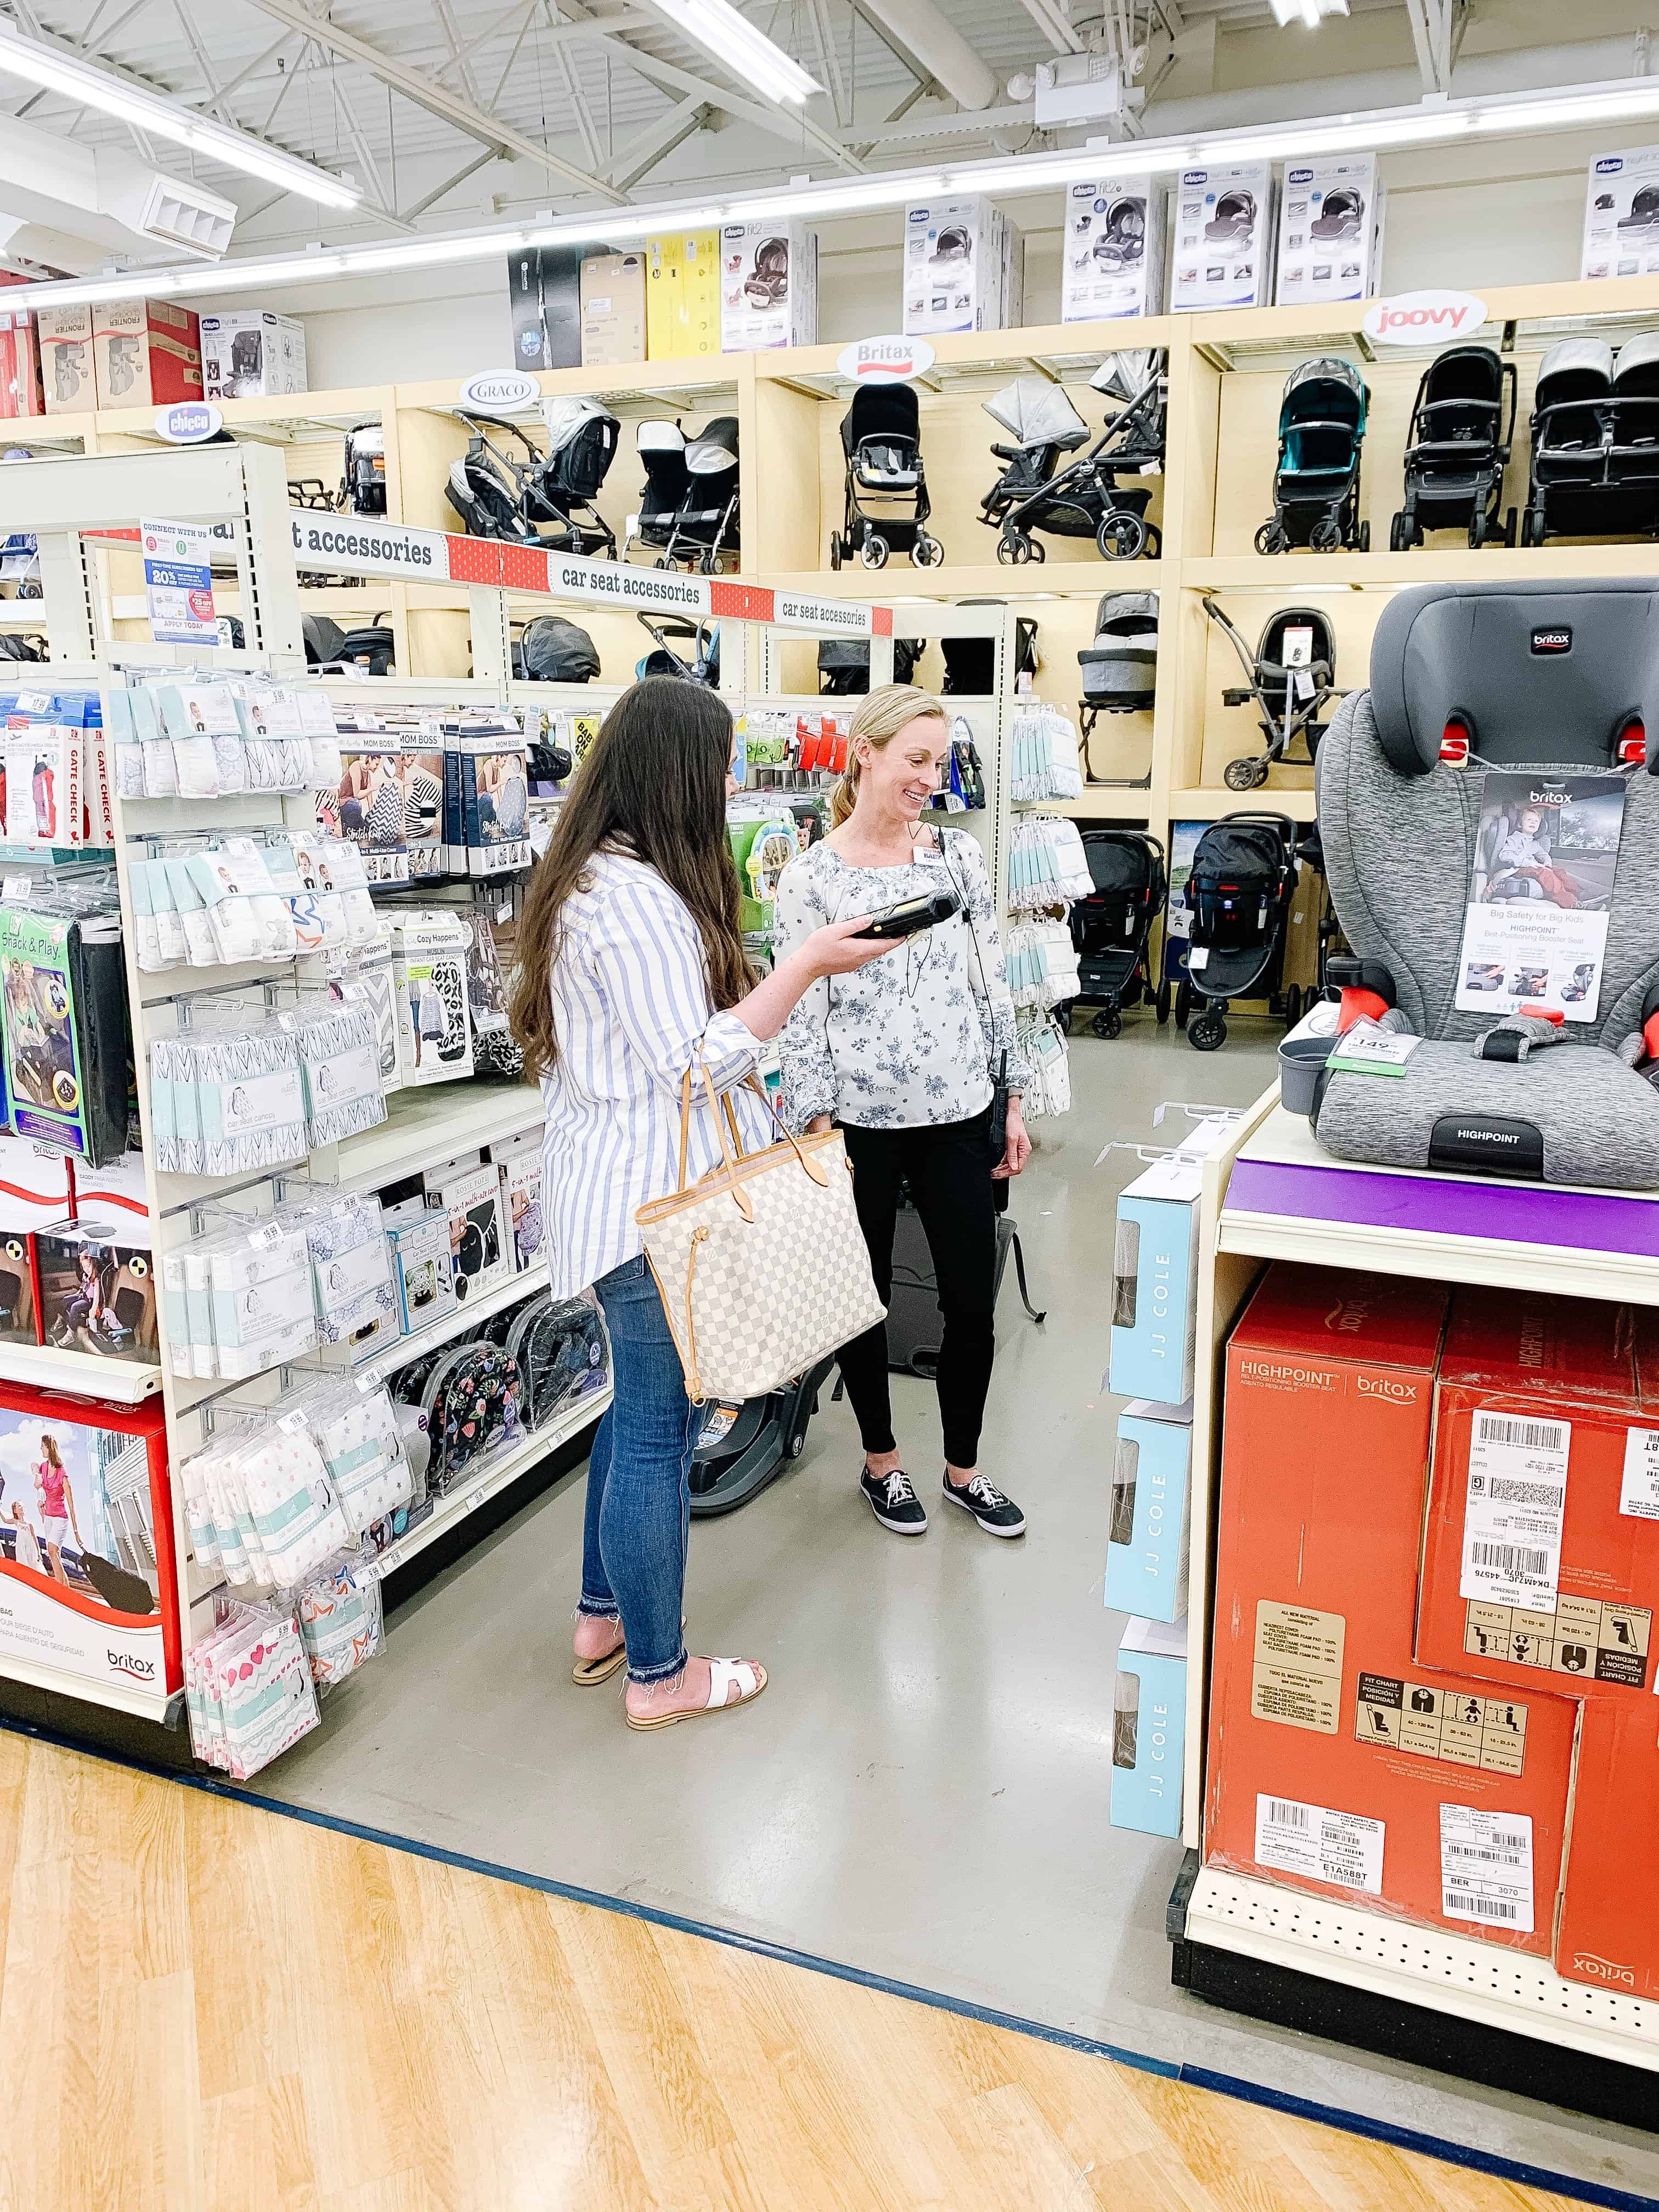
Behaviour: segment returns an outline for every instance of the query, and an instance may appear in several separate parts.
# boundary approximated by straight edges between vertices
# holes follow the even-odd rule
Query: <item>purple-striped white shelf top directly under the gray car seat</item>
[[[1232,1164],[1217,1250],[1659,1305],[1659,1190],[1360,1168],[1274,1106]]]

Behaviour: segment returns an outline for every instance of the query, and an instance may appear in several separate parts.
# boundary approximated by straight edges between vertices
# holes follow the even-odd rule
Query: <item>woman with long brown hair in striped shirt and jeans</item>
[[[681,1597],[699,1409],[646,1272],[635,1210],[679,1181],[692,1068],[690,1177],[721,1159],[703,1068],[745,1148],[774,1139],[737,1088],[761,1042],[823,975],[894,947],[865,916],[814,929],[757,982],[726,841],[732,717],[697,684],[646,677],[611,708],[531,880],[518,931],[513,1035],[542,1084],[542,1206],[553,1294],[593,1285],[615,1396],[588,1460],[577,1683],[628,1668],[630,1728],[668,1728],[765,1688],[752,1659],[688,1657]]]

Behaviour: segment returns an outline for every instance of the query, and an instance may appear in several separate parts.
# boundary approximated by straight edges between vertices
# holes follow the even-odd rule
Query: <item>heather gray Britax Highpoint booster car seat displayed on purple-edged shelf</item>
[[[1641,772],[1646,765],[1646,774]],[[1489,772],[1509,774],[1513,816],[1493,812]],[[1617,832],[1500,865],[1509,834],[1566,823],[1564,776],[1615,779],[1595,801]],[[1325,874],[1354,960],[1336,971],[1422,1044],[1398,1077],[1327,1068],[1318,1141],[1340,1159],[1650,1190],[1659,1183],[1659,584],[1422,584],[1398,593],[1371,644],[1371,688],[1354,692],[1318,748]],[[1577,787],[1579,792],[1584,785]],[[1528,801],[1537,796],[1542,810]],[[1617,854],[1613,836],[1617,834]],[[1593,849],[1595,847],[1595,849]],[[1513,852],[1513,845],[1511,845]],[[1566,874],[1557,898],[1551,885]],[[1500,900],[1522,894],[1511,905]],[[1528,964],[1464,958],[1464,914],[1540,914],[1526,896],[1606,914],[1593,964],[1548,949]],[[1500,925],[1495,925],[1500,927]],[[1471,938],[1473,942],[1473,938]],[[1462,973],[1467,969],[1467,975]],[[1498,978],[1493,982],[1493,978]],[[1553,1015],[1458,1006],[1484,989],[1553,991]],[[1376,1000],[1371,1002],[1376,1011]],[[1593,1020],[1575,1020],[1582,1004]],[[1568,1018],[1562,1018],[1566,1011]]]

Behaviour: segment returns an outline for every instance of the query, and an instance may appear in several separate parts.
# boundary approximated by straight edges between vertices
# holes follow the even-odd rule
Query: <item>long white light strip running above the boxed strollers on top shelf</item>
[[[221,261],[204,270],[184,263],[170,270],[133,270],[128,276],[71,276],[29,288],[29,301],[86,305],[111,299],[142,299],[148,292],[250,292],[268,285],[303,285],[334,276],[400,274],[442,263],[500,261],[522,246],[566,246],[606,237],[617,243],[664,230],[717,230],[723,223],[754,223],[783,217],[858,215],[905,208],[914,199],[945,199],[956,192],[1031,195],[1082,177],[1126,177],[1150,170],[1172,175],[1219,161],[1298,161],[1321,153],[1383,153],[1391,146],[1447,146],[1475,133],[1573,131],[1582,124],[1628,122],[1659,115],[1659,77],[1617,77],[1608,84],[1575,84],[1559,93],[1498,93],[1473,100],[1425,102],[1411,108],[1369,108],[1316,122],[1254,124],[1243,131],[1212,131],[1183,139],[1126,139],[1117,146],[1073,146],[1064,153],[1018,159],[960,161],[938,168],[883,170],[874,177],[825,179],[803,186],[768,186],[732,192],[717,201],[668,201],[644,208],[604,208],[560,215],[535,230],[449,230],[416,239],[365,239],[327,252],[279,254],[272,259]]]

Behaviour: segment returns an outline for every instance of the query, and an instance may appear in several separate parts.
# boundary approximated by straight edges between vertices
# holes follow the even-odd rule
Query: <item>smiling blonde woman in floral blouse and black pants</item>
[[[993,1183],[1020,1175],[1031,1155],[1020,1115],[1026,1071],[984,856],[964,830],[925,818],[949,752],[945,706],[909,684],[874,690],[852,719],[834,827],[779,883],[779,956],[825,922],[925,891],[956,891],[962,911],[907,938],[891,960],[807,989],[783,1026],[783,1110],[796,1130],[832,1121],[843,1128],[883,1303],[900,1186],[909,1186],[945,1312],[942,1495],[989,1535],[1018,1537],[1024,1513],[980,1473],[978,1453],[995,1349]],[[1011,1099],[1006,1144],[993,1161],[995,1077],[1006,1079]],[[860,1486],[869,1511],[894,1535],[925,1535],[927,1509],[894,1438],[883,1325],[843,1345],[841,1374],[865,1447]]]

